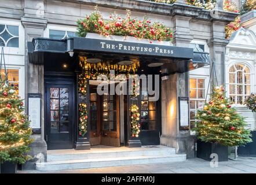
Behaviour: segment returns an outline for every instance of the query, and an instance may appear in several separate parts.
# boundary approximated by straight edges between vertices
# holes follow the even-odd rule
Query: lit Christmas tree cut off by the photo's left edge
[[[17,164],[30,159],[30,121],[23,112],[23,100],[14,87],[0,80],[0,162],[1,173],[16,173]]]

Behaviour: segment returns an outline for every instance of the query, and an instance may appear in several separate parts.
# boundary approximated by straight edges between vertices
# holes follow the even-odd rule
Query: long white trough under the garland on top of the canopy
[[[152,42],[151,45],[172,46],[172,43],[169,42],[169,41],[138,39],[138,38],[135,38],[134,36],[118,36],[118,35],[103,36],[103,35],[100,35],[100,34],[87,33],[85,38],[102,39],[102,40],[115,40],[115,41],[120,41],[120,42],[136,42],[136,43],[145,43],[145,44],[149,44],[150,41],[151,41]]]

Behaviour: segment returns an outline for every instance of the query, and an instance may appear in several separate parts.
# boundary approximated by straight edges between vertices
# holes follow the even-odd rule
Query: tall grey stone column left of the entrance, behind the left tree
[[[28,93],[41,94],[41,134],[33,134],[34,142],[31,144],[30,156],[32,160],[23,165],[24,169],[34,169],[36,161],[46,161],[47,145],[44,139],[44,87],[43,65],[34,65],[28,61],[27,42],[35,37],[43,36],[47,20],[43,18],[43,1],[24,1],[24,16],[21,23],[25,30],[25,111],[28,113]],[[41,10],[38,10],[41,8]]]

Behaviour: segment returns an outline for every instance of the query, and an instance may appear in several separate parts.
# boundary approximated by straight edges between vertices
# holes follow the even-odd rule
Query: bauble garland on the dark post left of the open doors
[[[87,81],[85,74],[79,75],[78,79],[78,86],[79,86],[79,93],[82,95],[86,95],[86,88],[87,88]],[[88,113],[87,113],[87,107],[86,103],[80,103],[79,104],[79,135],[85,136],[87,132],[87,119],[88,119]]]

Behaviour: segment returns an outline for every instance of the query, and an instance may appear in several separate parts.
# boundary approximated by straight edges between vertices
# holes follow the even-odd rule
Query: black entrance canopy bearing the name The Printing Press
[[[209,53],[186,47],[80,37],[34,38],[28,42],[28,60],[32,64],[54,68],[65,61],[75,65],[77,56],[98,58],[110,65],[120,61],[138,61],[138,73],[144,74],[183,73],[209,65]]]

